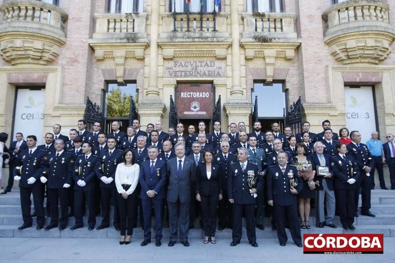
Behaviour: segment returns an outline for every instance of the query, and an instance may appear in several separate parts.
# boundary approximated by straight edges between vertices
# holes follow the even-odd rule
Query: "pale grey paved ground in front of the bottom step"
[[[118,239],[103,238],[1,238],[0,263],[177,263],[177,262],[385,262],[395,261],[395,238],[384,238],[384,254],[382,255],[303,255],[302,249],[288,242],[280,247],[275,238],[258,239],[258,248],[242,242],[237,247],[230,247],[229,239],[218,240],[218,243],[204,245],[198,239],[190,240],[191,246],[186,248],[181,243],[167,247],[163,240],[161,247],[154,243],[140,247],[142,240],[133,240],[129,245],[119,245]]]

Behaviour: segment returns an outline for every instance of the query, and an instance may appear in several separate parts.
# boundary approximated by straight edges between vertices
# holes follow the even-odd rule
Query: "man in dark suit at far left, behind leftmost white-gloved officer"
[[[12,189],[12,186],[14,185],[14,169],[16,166],[16,163],[18,162],[18,153],[24,150],[28,149],[28,146],[26,144],[26,141],[23,140],[23,134],[18,132],[15,135],[16,141],[13,141],[8,148],[8,153],[9,153],[9,160],[8,160],[8,184],[7,187],[4,189],[2,194],[10,192]]]

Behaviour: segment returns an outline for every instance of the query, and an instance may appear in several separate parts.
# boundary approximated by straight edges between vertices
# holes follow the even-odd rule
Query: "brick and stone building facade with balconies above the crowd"
[[[251,130],[255,102],[264,128],[283,127],[301,97],[312,131],[330,119],[334,131],[383,137],[395,131],[394,10],[386,0],[0,0],[0,130],[74,128],[86,97],[106,131],[113,119],[125,129],[130,96],[142,129],[168,128],[174,109],[176,121],[212,127],[219,96],[223,131]]]

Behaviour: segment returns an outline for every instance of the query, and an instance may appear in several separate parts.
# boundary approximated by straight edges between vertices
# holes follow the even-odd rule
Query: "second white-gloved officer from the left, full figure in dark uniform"
[[[51,222],[45,226],[45,230],[57,227],[59,224],[58,199],[60,201],[60,226],[63,230],[69,219],[69,188],[73,182],[74,156],[64,150],[64,142],[57,139],[54,142],[55,151],[48,154],[45,160],[41,183],[46,183],[47,202],[50,203]]]

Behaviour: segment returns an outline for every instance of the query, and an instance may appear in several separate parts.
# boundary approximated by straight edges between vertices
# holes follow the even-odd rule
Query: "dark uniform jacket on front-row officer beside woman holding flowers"
[[[298,170],[295,166],[287,164],[285,172],[282,173],[278,164],[269,167],[267,191],[268,200],[273,200],[274,205],[288,206],[296,205],[298,202],[298,195],[291,193],[291,180],[297,181],[298,193],[302,190],[302,180],[298,176]]]

